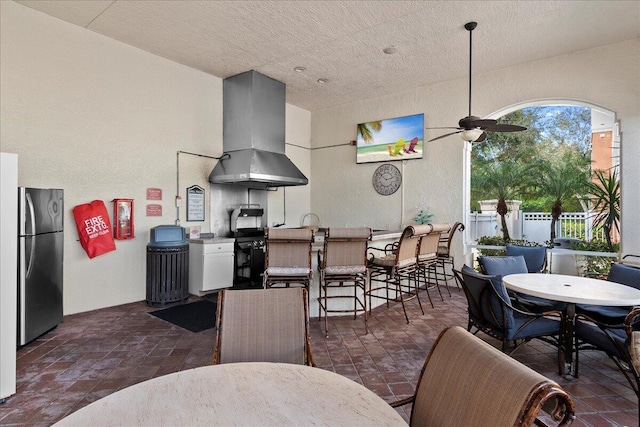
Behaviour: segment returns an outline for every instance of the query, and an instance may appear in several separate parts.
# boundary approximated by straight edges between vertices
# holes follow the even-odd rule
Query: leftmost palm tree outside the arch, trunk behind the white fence
[[[480,163],[480,162],[478,162]],[[476,165],[471,176],[472,191],[484,197],[498,199],[496,212],[500,215],[502,238],[511,240],[507,228],[506,214],[509,212],[507,200],[520,197],[531,179],[529,170],[523,163],[514,162],[482,162]]]

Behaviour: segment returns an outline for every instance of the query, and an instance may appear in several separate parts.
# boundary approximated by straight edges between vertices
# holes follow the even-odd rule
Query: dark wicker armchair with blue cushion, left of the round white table
[[[507,354],[533,338],[558,345],[560,312],[532,313],[516,308],[500,277],[479,274],[466,265],[461,271],[454,270],[454,275],[467,297],[468,331],[476,328],[475,333],[482,331],[502,341],[502,351]]]

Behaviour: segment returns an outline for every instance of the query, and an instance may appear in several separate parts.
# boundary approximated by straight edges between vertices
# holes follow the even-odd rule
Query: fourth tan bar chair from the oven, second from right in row
[[[416,227],[428,227],[428,230],[425,232],[416,229],[416,233],[421,234],[417,254],[418,281],[422,281],[424,284],[427,296],[429,297],[429,303],[431,303],[431,308],[433,308],[433,300],[431,299],[431,294],[429,294],[429,289],[437,288],[438,294],[440,294],[440,300],[444,301],[442,292],[440,291],[440,283],[437,280],[432,280],[432,273],[435,273],[435,267],[438,263],[438,246],[440,245],[442,234],[449,231],[451,227],[449,224],[428,224]],[[451,293],[449,293],[449,296],[451,296]]]

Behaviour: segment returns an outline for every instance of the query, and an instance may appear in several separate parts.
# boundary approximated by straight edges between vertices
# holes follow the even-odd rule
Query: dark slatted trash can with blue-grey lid
[[[147,244],[147,304],[164,306],[189,297],[189,244],[184,227],[159,225]]]

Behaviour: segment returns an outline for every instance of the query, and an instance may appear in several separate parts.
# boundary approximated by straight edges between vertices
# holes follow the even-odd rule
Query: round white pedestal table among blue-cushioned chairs
[[[563,274],[522,273],[503,277],[507,289],[567,303],[564,310],[564,374],[573,376],[576,304],[627,307],[640,305],[640,290],[620,283]]]

